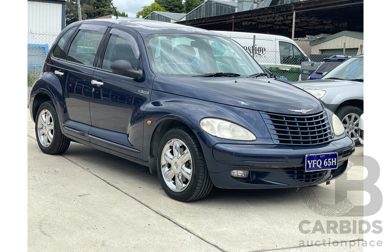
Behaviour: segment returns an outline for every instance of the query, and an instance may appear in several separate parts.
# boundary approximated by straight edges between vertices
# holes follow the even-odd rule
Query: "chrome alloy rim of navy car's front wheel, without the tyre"
[[[187,188],[192,176],[192,157],[179,139],[171,139],[161,154],[161,172],[167,186],[175,192]]]

